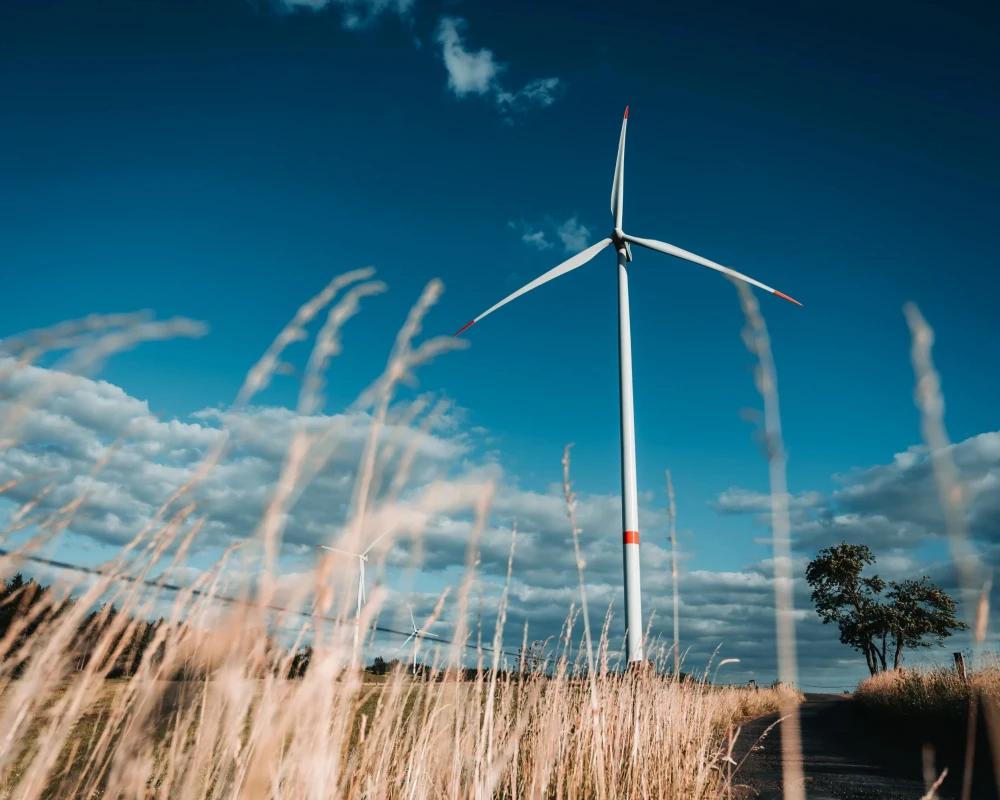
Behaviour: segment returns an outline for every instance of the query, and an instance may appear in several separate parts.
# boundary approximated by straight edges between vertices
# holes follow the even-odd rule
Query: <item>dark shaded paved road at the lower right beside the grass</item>
[[[776,719],[762,717],[744,726],[734,754],[737,762]],[[894,745],[893,737],[866,724],[844,695],[806,695],[801,719],[809,800],[916,800],[924,794],[920,748]],[[739,798],[781,798],[780,726],[753,747],[734,783],[740,787],[734,791]],[[946,789],[939,796],[951,800],[956,795]],[[986,789],[974,796],[995,795]]]

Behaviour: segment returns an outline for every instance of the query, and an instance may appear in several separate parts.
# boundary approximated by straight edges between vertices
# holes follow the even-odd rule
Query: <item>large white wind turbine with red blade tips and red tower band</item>
[[[618,253],[618,366],[619,366],[619,400],[621,404],[621,450],[622,450],[622,548],[625,562],[625,621],[627,634],[628,661],[642,660],[642,605],[639,593],[639,501],[636,487],[635,469],[635,420],[632,406],[632,334],[629,323],[628,307],[628,264],[632,261],[632,249],[629,245],[638,245],[649,250],[666,253],[668,256],[690,261],[709,269],[714,269],[730,278],[744,281],[763,289],[773,295],[802,305],[798,300],[789,297],[754,280],[741,272],[716,264],[707,258],[682,250],[672,244],[659,242],[655,239],[642,239],[632,236],[622,230],[622,206],[625,198],[625,129],[628,126],[628,107],[622,120],[622,132],[618,139],[618,158],[615,161],[615,174],[611,183],[611,215],[615,227],[611,235],[601,239],[597,244],[566,259],[562,264],[553,267],[543,275],[539,275],[530,283],[525,284],[513,294],[508,295],[496,305],[490,306],[478,317],[463,325],[455,335],[471,328],[483,317],[492,314],[498,308],[516,300],[532,289],[537,289],[543,283],[565,275],[577,267],[582,267],[605,247],[613,244]]]

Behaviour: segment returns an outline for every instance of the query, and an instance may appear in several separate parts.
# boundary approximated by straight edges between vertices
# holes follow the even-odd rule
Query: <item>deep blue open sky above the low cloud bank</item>
[[[906,301],[937,331],[953,439],[997,429],[997,22],[987,4],[0,3],[0,334],[142,308],[203,320],[207,337],[102,373],[188,419],[231,402],[332,275],[370,264],[390,291],[345,333],[332,412],[430,278],[446,293],[425,332],[450,333],[562,260],[560,229],[606,235],[629,103],[626,230],[805,304],[760,297],[790,487],[830,495],[919,442]],[[575,442],[577,489],[618,491],[613,265],[420,373],[467,457],[512,486],[546,491]],[[651,253],[631,291],[645,504],[662,508],[669,467],[688,566],[744,570],[765,529],[718,498],[767,474],[735,293]]]

